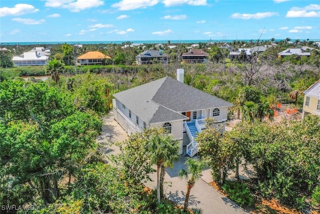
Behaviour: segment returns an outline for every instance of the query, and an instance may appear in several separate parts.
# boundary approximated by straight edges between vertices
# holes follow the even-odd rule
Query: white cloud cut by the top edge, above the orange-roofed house
[[[64,8],[71,12],[80,12],[85,9],[104,5],[102,0],[45,0],[45,7]]]

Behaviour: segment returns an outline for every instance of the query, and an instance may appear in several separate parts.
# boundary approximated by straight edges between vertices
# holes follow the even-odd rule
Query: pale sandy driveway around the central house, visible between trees
[[[119,152],[119,149],[115,145],[111,145],[113,142],[127,139],[127,134],[120,127],[120,125],[113,119],[112,112],[104,119],[104,125],[102,127],[102,134],[97,138],[97,142],[103,145],[103,151],[106,154]],[[184,156],[180,156],[180,159],[174,163],[172,169],[167,168],[164,176],[164,193],[165,197],[173,200],[174,202],[183,205],[186,181],[178,178],[177,173],[180,169],[184,168]],[[154,165],[154,168],[156,166]],[[146,182],[149,188],[155,189],[156,187],[156,173],[152,173],[150,176],[154,181]],[[200,208],[203,214],[212,213],[247,213],[241,207],[235,205],[227,197],[221,195],[216,189],[210,186],[207,182],[212,181],[210,175],[210,169],[202,171],[202,177],[196,181],[194,187],[190,191],[189,208]]]

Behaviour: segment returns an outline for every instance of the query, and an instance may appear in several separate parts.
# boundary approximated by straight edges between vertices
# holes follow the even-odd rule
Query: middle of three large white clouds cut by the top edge
[[[152,7],[158,4],[159,0],[122,0],[111,5],[112,8],[118,8],[120,11],[129,11],[138,8]]]

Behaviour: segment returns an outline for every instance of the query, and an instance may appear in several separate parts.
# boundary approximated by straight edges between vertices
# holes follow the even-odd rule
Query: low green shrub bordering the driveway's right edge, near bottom
[[[225,181],[222,189],[226,191],[230,199],[239,206],[251,206],[253,203],[253,195],[243,181]]]

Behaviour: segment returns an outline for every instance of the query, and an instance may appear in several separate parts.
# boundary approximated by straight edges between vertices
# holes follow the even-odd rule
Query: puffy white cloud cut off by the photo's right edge
[[[320,17],[320,5],[308,5],[304,8],[293,7],[290,11],[286,12],[286,18],[311,18],[311,17]]]

